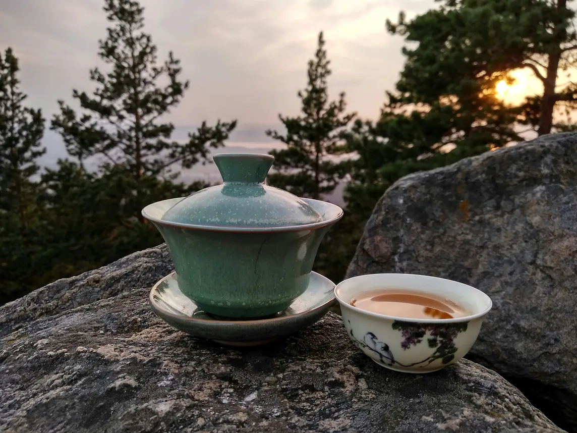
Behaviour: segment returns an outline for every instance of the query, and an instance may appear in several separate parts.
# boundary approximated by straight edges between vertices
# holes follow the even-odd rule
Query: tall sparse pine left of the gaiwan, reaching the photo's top
[[[190,168],[205,162],[208,148],[223,145],[236,121],[209,126],[206,122],[186,143],[171,140],[174,125],[162,122],[189,87],[179,80],[181,67],[172,52],[157,62],[157,48],[143,31],[144,8],[134,0],[106,0],[104,11],[111,23],[107,38],[99,41],[99,57],[110,66],[107,73],[90,72],[96,83],[93,95],[73,91],[82,114],[63,101],[52,129],[61,133],[68,152],[81,163],[99,155],[101,167],[122,166],[134,178],[170,176],[178,163]]]

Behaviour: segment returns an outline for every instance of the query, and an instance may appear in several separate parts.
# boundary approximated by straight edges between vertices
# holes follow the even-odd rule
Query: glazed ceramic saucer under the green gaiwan
[[[286,310],[264,319],[217,319],[201,311],[182,294],[177,274],[173,272],[155,284],[148,300],[160,319],[182,332],[229,346],[256,346],[317,322],[335,303],[334,289],[331,280],[311,272],[305,293]]]

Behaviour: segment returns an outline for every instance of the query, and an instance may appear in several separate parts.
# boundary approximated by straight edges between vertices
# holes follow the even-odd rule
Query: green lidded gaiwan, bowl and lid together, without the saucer
[[[223,183],[143,209],[166,241],[182,293],[203,311],[253,319],[286,309],[309,285],[340,207],[265,184],[271,155],[218,154]]]

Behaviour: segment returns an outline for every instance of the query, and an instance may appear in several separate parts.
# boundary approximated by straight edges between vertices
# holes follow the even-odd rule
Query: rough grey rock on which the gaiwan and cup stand
[[[563,432],[471,361],[379,367],[332,313],[261,348],[191,338],[147,304],[170,270],[153,248],[0,308],[0,431]]]

